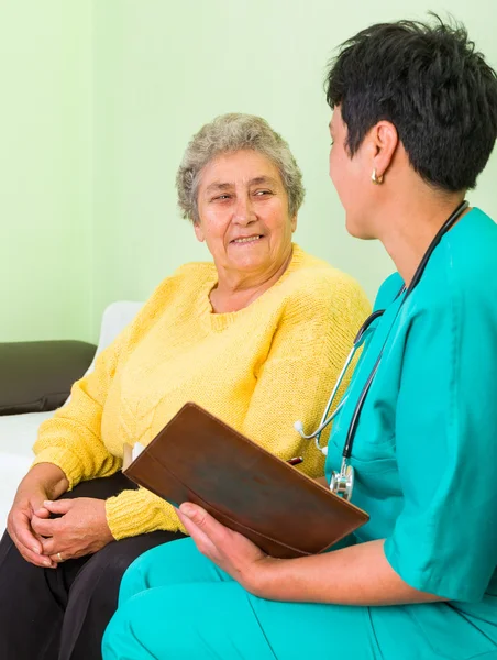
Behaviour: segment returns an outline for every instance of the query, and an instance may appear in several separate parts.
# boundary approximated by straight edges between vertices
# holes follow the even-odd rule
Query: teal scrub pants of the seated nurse
[[[424,616],[419,619],[413,608]],[[102,654],[103,660],[476,657],[464,651],[472,648],[472,626],[461,632],[459,626],[451,629],[450,616],[445,604],[347,607],[265,601],[247,593],[185,539],[147,551],[126,571]],[[438,641],[440,626],[448,630],[444,649],[431,646],[424,619],[434,626]],[[484,657],[495,658],[478,653],[478,660]]]

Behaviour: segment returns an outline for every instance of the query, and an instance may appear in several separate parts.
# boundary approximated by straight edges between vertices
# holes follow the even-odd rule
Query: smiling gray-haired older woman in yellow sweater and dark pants
[[[318,421],[368,304],[292,244],[303,188],[287,144],[259,118],[219,117],[177,188],[213,264],[166,278],[41,428],[0,546],[2,660],[100,657],[124,570],[183,536],[174,508],[122,475],[123,447],[147,444],[186,402],[323,471],[288,420]]]

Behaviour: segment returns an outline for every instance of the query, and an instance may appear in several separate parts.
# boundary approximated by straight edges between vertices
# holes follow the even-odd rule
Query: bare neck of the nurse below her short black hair
[[[416,178],[418,175],[416,175]],[[387,193],[385,190],[385,193]],[[406,287],[440,228],[463,201],[463,193],[439,193],[420,179],[408,194],[384,197],[377,238],[393,258]],[[461,217],[467,212],[467,209]]]

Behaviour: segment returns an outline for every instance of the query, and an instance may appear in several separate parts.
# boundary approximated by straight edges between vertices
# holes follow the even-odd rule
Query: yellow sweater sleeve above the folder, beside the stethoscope
[[[314,440],[300,438],[300,420],[313,431],[371,305],[358,284],[344,274],[302,282],[288,304],[269,354],[261,366],[243,432],[264,449],[288,460],[302,457],[300,470],[323,474],[324,457]],[[352,371],[352,370],[349,370]],[[342,384],[336,400],[347,385]],[[330,432],[323,432],[321,447]]]

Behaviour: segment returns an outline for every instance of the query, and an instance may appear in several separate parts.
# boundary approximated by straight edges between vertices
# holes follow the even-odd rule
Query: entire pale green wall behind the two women
[[[176,209],[191,134],[265,117],[303,170],[297,241],[371,297],[391,263],[347,237],[328,179],[322,80],[361,28],[428,9],[464,21],[497,66],[494,0],[0,0],[0,341],[92,338],[103,307],[144,299],[207,258]],[[7,144],[7,148],[3,148]],[[497,153],[473,204],[497,218]]]

